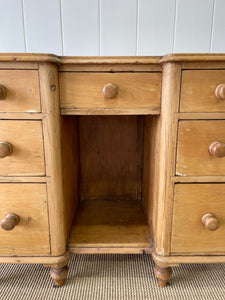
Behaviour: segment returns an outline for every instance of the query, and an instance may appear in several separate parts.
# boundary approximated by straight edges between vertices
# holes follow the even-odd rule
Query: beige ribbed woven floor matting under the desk
[[[148,255],[73,255],[68,280],[54,288],[42,265],[0,265],[0,299],[225,299],[225,264],[173,268],[159,288]]]

